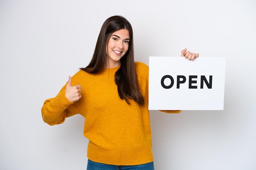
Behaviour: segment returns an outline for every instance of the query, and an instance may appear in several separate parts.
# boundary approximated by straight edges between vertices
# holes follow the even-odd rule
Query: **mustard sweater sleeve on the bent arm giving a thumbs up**
[[[49,125],[61,124],[65,118],[77,113],[73,102],[65,96],[66,85],[61,89],[55,98],[45,100],[41,109],[43,121]]]

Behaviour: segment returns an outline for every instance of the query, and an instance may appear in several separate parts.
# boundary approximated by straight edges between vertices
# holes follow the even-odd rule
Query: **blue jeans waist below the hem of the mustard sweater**
[[[145,163],[132,166],[116,166],[97,163],[88,159],[87,170],[154,170],[154,163]]]

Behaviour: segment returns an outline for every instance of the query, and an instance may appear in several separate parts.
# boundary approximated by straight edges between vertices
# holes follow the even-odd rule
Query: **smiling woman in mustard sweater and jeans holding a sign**
[[[186,49],[181,55],[189,60],[199,56]],[[134,62],[132,26],[124,17],[112,16],[103,23],[89,65],[69,77],[42,107],[49,125],[75,114],[85,117],[88,170],[154,169],[148,66]]]

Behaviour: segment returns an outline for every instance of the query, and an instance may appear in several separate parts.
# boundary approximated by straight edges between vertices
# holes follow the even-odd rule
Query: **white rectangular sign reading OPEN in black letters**
[[[149,110],[223,110],[225,57],[149,57]]]

